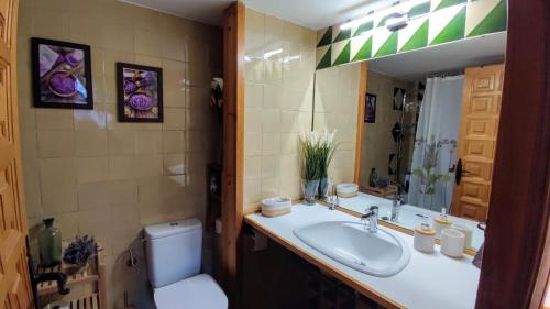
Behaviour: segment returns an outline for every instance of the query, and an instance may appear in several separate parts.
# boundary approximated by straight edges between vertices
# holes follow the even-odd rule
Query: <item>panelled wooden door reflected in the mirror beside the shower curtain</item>
[[[487,218],[503,80],[504,65],[465,70],[458,144],[462,177],[454,187],[455,216],[476,221]]]

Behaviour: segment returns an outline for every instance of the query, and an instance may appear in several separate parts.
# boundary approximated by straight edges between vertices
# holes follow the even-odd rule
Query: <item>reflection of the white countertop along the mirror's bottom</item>
[[[378,217],[391,217],[393,205],[392,200],[364,192],[359,192],[358,196],[352,198],[339,198],[338,206],[359,213],[365,213],[365,209],[373,205],[378,206],[380,208]],[[418,214],[421,214],[425,218],[419,217]],[[389,220],[384,221],[403,227],[405,229],[414,230],[416,227],[420,225],[424,222],[428,222],[431,224],[432,219],[435,217],[438,217],[439,214],[439,212],[432,210],[404,203],[402,205],[397,222],[392,222]],[[472,249],[477,251],[485,239],[483,231],[477,229],[477,222],[454,216],[448,217],[453,223],[459,223],[472,230]]]

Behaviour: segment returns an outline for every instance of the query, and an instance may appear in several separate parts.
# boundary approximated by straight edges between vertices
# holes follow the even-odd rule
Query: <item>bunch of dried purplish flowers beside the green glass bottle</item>
[[[76,236],[65,249],[63,261],[66,263],[68,273],[76,273],[88,265],[88,261],[97,255],[98,247],[92,236]]]

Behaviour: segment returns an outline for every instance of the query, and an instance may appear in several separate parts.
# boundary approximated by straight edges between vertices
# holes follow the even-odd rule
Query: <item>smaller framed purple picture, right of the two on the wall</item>
[[[163,122],[163,70],[117,63],[119,121]]]

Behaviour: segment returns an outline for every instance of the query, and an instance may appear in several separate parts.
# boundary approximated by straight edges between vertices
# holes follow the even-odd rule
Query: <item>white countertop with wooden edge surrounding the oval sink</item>
[[[375,277],[363,274],[326,256],[310,247],[293,233],[293,230],[305,223],[319,221],[359,221],[358,218],[338,210],[329,210],[321,205],[293,206],[293,212],[275,218],[252,213],[245,217],[246,222],[257,225],[276,235],[307,256],[321,261],[328,267],[338,269],[340,274],[365,289],[383,295],[409,309],[470,309],[474,308],[477,293],[480,269],[472,265],[472,258],[451,258],[439,252],[420,253],[413,249],[413,236],[378,225],[397,233],[410,246],[410,262],[400,273],[387,277]]]

